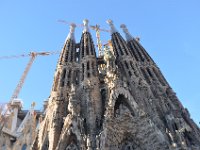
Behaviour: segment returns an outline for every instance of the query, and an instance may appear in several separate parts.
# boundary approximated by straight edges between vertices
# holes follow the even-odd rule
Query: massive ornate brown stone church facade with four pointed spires
[[[124,40],[107,21],[111,42],[102,60],[83,23],[79,43],[70,26],[32,149],[200,149],[200,129],[126,26]]]

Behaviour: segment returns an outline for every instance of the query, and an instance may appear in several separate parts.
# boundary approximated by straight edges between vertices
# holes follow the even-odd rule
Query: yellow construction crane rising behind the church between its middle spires
[[[67,22],[65,20],[58,20],[58,22],[61,22],[61,23],[64,23],[64,24],[72,24],[70,22]],[[83,24],[76,24],[76,26],[78,27],[83,27],[84,25]],[[103,32],[110,32],[110,30],[107,30],[107,29],[101,29],[99,25],[90,25],[89,26],[92,30],[95,30],[96,31],[96,38],[97,38],[97,48],[98,48],[98,56],[99,57],[102,57],[103,54],[104,54],[104,50],[102,48],[102,42],[101,42],[101,38],[100,38],[100,31],[103,31]]]

